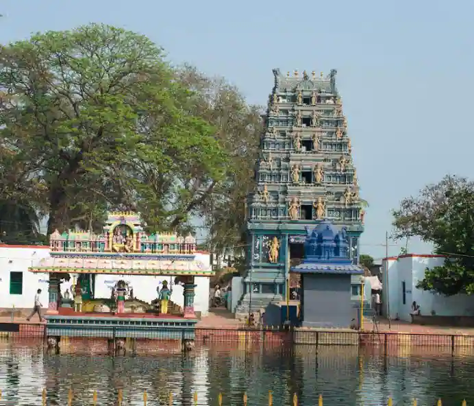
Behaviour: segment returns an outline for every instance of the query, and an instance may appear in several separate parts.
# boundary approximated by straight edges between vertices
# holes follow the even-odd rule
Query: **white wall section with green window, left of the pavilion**
[[[48,274],[28,272],[40,259],[49,256],[49,247],[0,246],[0,308],[33,308],[36,290],[42,289],[41,304],[48,307]],[[23,272],[23,294],[10,295],[10,272]]]

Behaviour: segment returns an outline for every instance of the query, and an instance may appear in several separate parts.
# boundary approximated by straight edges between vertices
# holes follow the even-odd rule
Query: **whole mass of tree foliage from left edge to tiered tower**
[[[101,231],[110,209],[149,230],[205,216],[213,250],[240,247],[260,108],[147,37],[109,25],[0,48],[0,232]],[[183,231],[183,230],[182,230]],[[21,237],[23,238],[23,237]]]

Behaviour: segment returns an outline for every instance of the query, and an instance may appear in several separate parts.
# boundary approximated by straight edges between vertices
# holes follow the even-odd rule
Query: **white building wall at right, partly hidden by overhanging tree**
[[[388,296],[390,300],[390,316],[395,319],[411,321],[410,311],[412,302],[420,306],[422,315],[454,316],[474,315],[474,298],[466,295],[444,296],[430,291],[416,289],[419,280],[425,275],[426,268],[442,265],[445,258],[437,255],[400,256],[388,259]],[[382,283],[386,279],[385,260],[382,263]],[[405,303],[403,304],[403,285],[405,281]],[[384,283],[384,291],[386,284]],[[384,295],[383,295],[384,296]],[[384,298],[384,302],[386,298]]]

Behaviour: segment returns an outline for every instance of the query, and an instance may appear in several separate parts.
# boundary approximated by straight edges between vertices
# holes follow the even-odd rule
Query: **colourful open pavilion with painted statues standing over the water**
[[[118,212],[110,213],[101,235],[55,231],[50,245],[50,256],[29,271],[49,274],[46,318],[51,337],[64,335],[64,329],[69,336],[90,335],[107,318],[108,326],[120,326],[126,338],[140,328],[140,337],[180,338],[179,329],[184,329],[192,339],[197,322],[195,277],[212,276],[210,264],[197,258],[192,235],[147,235],[139,215]],[[132,278],[140,283],[130,286],[127,280]],[[184,294],[182,307],[173,302],[177,294],[173,286],[177,285]],[[155,291],[155,300],[138,299],[142,294],[134,291],[138,286]],[[103,295],[104,289],[108,289],[107,295]],[[98,297],[99,291],[102,297]]]

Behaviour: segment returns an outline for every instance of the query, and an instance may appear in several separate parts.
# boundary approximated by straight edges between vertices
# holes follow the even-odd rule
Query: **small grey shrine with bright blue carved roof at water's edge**
[[[301,325],[349,328],[357,318],[351,302],[352,279],[364,271],[351,261],[347,231],[327,220],[306,230],[305,258],[290,268],[301,274]]]

